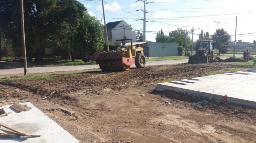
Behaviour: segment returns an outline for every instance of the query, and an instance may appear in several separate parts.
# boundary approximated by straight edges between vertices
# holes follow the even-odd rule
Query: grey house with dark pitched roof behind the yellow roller
[[[126,23],[124,20],[109,22],[107,25],[108,40],[112,43],[116,40],[124,39],[127,37],[133,39],[132,42],[136,41],[136,32],[132,31],[131,25]],[[106,34],[104,34],[106,40]]]

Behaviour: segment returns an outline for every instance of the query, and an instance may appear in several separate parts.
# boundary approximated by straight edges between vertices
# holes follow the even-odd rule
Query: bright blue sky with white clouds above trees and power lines
[[[84,4],[91,16],[103,21],[101,0],[77,0]],[[134,31],[143,33],[144,0],[104,0],[106,24],[125,20]],[[146,0],[146,40],[155,42],[156,33],[164,34],[182,28],[189,31],[193,41],[201,30],[210,35],[225,29],[232,41],[256,40],[256,1],[254,0]],[[237,16],[237,30],[236,30]],[[235,32],[236,31],[236,32]]]

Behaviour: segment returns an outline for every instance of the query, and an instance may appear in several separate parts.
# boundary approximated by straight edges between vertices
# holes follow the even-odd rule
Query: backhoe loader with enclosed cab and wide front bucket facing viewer
[[[189,56],[189,63],[218,62],[215,59],[214,44],[211,40],[201,40],[199,42],[199,49],[193,56]]]

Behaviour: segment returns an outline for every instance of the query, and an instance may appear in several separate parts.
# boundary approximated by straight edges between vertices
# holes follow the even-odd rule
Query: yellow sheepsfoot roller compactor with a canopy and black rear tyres
[[[127,49],[120,47],[114,51],[103,52],[96,61],[102,71],[127,71],[131,65],[135,64],[137,68],[144,68],[146,58],[143,48],[139,45],[132,45],[132,39],[120,39],[116,41],[128,41],[131,45]]]

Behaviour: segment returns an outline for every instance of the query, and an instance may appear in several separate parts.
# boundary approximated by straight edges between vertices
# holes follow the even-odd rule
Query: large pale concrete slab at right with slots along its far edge
[[[228,103],[256,108],[256,69],[158,83],[156,90],[176,91],[187,95],[220,100],[227,94]]]

